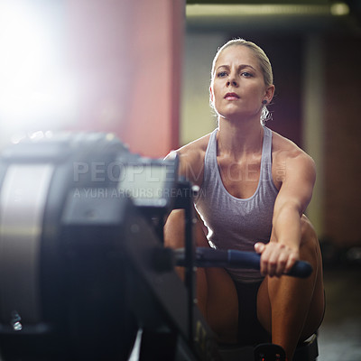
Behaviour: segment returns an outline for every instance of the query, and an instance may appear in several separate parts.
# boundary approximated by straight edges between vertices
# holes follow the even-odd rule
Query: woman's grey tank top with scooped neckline
[[[255,252],[256,242],[271,237],[273,206],[278,190],[272,177],[272,131],[264,126],[261,171],[252,197],[238,199],[226,190],[217,162],[217,132],[211,134],[204,159],[204,178],[195,199],[195,207],[208,228],[208,243],[217,249]],[[263,279],[259,271],[227,268],[237,282]]]

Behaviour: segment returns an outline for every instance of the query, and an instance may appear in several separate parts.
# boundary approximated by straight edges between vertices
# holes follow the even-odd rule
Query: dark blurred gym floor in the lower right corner
[[[326,314],[318,361],[361,361],[361,266],[325,266]]]

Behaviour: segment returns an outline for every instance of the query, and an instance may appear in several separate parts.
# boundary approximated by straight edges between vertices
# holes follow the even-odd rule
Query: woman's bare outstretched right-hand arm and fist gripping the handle
[[[316,180],[312,159],[301,151],[284,158],[285,172],[274,203],[273,231],[268,245],[256,244],[262,254],[261,273],[281,276],[300,259],[301,216],[310,203]]]

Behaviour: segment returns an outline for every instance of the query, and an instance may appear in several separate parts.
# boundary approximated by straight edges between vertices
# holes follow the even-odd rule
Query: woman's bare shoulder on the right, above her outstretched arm
[[[285,180],[286,175],[300,175],[311,182],[316,178],[316,166],[309,154],[284,136],[273,132],[273,167],[278,174],[277,180]]]

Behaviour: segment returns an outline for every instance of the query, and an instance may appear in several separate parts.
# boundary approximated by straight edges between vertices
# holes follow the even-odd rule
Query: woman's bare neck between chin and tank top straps
[[[262,153],[264,129],[260,122],[233,123],[219,119],[218,153],[241,158],[250,153]]]

